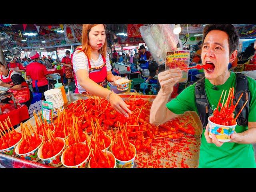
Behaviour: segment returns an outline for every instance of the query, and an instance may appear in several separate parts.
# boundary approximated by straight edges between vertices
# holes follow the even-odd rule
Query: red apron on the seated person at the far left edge
[[[3,75],[1,74],[0,78],[2,82],[13,85],[12,79],[11,79],[11,74],[12,70],[9,71],[9,75],[6,79],[3,78]],[[14,95],[14,98],[16,98],[20,103],[27,102],[30,99],[30,92],[28,88],[28,84],[26,82],[21,83],[21,89],[20,90],[8,90],[8,92],[12,92]],[[13,101],[10,100],[10,103],[13,104]]]

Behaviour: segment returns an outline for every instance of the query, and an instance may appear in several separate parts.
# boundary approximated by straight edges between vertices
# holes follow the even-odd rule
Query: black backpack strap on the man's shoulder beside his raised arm
[[[207,96],[204,90],[204,78],[199,80],[195,86],[196,106],[198,114],[202,122],[203,128],[208,124],[208,117],[212,114],[212,109],[207,100]]]

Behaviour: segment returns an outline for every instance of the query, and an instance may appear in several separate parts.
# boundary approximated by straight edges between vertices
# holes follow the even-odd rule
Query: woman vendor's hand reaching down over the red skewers
[[[128,109],[128,107],[130,107],[130,105],[127,105],[124,100],[122,100],[122,98],[120,96],[118,96],[118,94],[116,93],[112,93],[109,97],[109,102],[110,105],[112,106],[112,108],[114,108],[114,110],[116,110],[118,113],[124,115],[125,117],[129,117],[128,113],[132,114],[132,112],[130,111],[130,109]]]

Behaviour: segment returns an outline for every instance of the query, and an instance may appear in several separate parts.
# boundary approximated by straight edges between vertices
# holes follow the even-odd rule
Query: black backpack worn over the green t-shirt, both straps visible
[[[215,86],[212,87],[216,89]],[[238,125],[243,126],[248,123],[248,115],[249,115],[249,103],[250,103],[250,92],[248,89],[248,80],[245,74],[236,73],[236,89],[234,90],[235,98],[233,100],[233,104],[235,105],[240,94],[244,93],[242,98],[240,99],[238,105],[236,106],[235,112],[238,114],[244,102],[248,100],[246,106],[242,110],[241,114],[236,119]],[[196,96],[196,106],[198,109],[199,117],[202,122],[203,128],[208,124],[208,117],[213,114],[213,109],[211,108],[207,96],[204,91],[204,78],[199,80],[195,86],[195,96]]]

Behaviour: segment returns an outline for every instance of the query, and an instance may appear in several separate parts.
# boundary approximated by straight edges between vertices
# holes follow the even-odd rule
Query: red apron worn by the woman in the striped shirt
[[[81,50],[81,49],[82,48],[78,48],[77,50]],[[71,62],[72,62],[72,59],[73,59],[73,53],[71,54]],[[106,59],[103,55],[102,55],[102,59],[103,59],[102,66],[96,67],[96,68],[92,68],[92,66],[90,64],[90,60],[88,59],[89,78],[91,80],[93,80],[94,82],[96,82],[97,84],[99,84],[100,86],[102,86],[104,88],[107,88],[107,80],[106,80],[106,78],[107,78],[107,65],[106,65]],[[75,93],[79,93],[75,73],[74,73],[74,78],[75,78],[75,84],[76,84]],[[85,92],[83,92],[83,93],[85,93]]]

